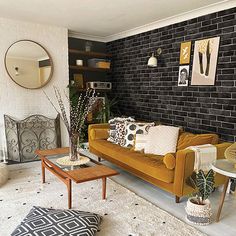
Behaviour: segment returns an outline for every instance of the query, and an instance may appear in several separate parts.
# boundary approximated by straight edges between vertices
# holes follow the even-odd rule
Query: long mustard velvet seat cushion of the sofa
[[[121,147],[106,140],[93,140],[90,147],[111,159],[118,160],[140,172],[166,183],[173,183],[174,170],[167,169],[163,163],[163,156],[144,154]]]

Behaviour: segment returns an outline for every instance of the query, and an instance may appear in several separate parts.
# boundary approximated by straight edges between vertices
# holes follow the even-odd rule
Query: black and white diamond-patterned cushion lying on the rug
[[[12,236],[94,236],[102,217],[83,211],[33,207]]]

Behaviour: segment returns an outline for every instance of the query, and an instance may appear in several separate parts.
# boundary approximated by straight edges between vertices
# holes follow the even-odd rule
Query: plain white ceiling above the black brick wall
[[[235,0],[0,0],[0,16],[106,38],[229,2],[236,6]]]

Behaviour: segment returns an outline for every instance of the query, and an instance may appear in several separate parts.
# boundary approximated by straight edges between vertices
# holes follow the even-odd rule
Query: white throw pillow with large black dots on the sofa
[[[134,123],[125,122],[125,142],[124,147],[133,147],[136,134],[147,134],[150,127],[155,126],[155,123]]]

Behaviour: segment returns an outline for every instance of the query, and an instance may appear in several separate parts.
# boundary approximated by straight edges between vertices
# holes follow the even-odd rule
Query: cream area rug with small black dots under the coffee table
[[[10,180],[0,188],[1,236],[10,236],[32,206],[67,208],[66,186],[48,171],[42,185],[40,162],[10,169]],[[103,216],[98,236],[205,235],[110,179],[107,200],[101,200],[99,180],[73,184],[72,189],[74,209]]]

